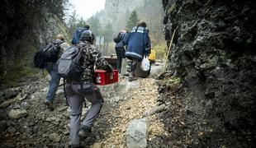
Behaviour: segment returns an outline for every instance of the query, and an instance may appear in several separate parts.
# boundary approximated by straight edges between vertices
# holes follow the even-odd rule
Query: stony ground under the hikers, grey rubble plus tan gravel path
[[[154,73],[152,73],[154,76]],[[48,91],[49,77],[15,88],[19,101],[0,109],[0,147],[68,147],[69,107],[65,106],[63,89],[59,88],[55,110],[45,109],[43,102]],[[126,128],[133,119],[142,118],[146,111],[157,106],[158,86],[154,78],[140,78],[129,82],[121,76],[120,81],[109,86],[100,86],[105,99],[102,112],[92,128],[93,135],[82,141],[85,147],[126,147]],[[4,92],[2,92],[4,94]],[[3,96],[3,95],[2,95]],[[89,105],[88,105],[89,107]],[[83,117],[88,110],[83,108]],[[25,110],[27,115],[13,119],[11,110]],[[164,125],[155,115],[149,116],[149,147],[159,143]],[[152,145],[151,145],[151,144]]]

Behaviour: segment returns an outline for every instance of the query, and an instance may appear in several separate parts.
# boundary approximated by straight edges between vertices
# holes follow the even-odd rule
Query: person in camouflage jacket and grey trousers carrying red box
[[[80,146],[80,137],[86,138],[92,132],[92,126],[95,122],[102,104],[104,102],[99,88],[93,84],[94,65],[107,72],[112,72],[111,65],[103,58],[102,53],[92,45],[93,34],[91,30],[83,31],[81,41],[77,45],[78,48],[83,49],[81,60],[83,73],[75,80],[66,83],[66,93],[68,96],[70,106],[70,139],[71,147]],[[86,118],[81,123],[82,107],[85,99],[92,103],[91,108],[88,110]],[[80,137],[79,137],[80,136]]]

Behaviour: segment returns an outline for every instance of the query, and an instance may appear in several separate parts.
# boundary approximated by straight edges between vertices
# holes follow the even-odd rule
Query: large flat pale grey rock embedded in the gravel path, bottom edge
[[[129,123],[126,132],[126,146],[133,147],[147,147],[147,136],[149,132],[148,118],[141,118],[133,120]]]

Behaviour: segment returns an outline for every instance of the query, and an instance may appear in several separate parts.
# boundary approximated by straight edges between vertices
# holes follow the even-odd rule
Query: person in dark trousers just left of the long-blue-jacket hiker
[[[114,41],[116,42],[116,68],[119,73],[121,73],[121,62],[123,58],[126,58],[126,49],[125,49],[125,39],[128,37],[126,30],[121,30],[118,35],[116,35]]]

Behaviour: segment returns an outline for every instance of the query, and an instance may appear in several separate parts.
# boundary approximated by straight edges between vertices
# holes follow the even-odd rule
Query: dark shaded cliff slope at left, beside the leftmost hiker
[[[47,2],[3,1],[0,7],[0,81],[1,88],[17,86],[37,71],[32,68],[36,50],[63,34],[69,38],[64,24],[50,12]]]

